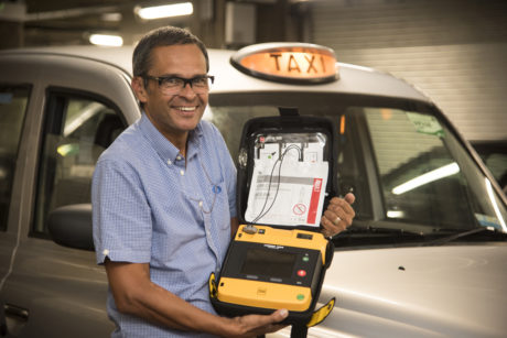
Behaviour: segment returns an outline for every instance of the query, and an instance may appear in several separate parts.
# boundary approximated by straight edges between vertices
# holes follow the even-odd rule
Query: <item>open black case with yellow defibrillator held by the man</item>
[[[239,230],[209,294],[226,316],[285,308],[292,337],[324,320],[331,299],[315,312],[333,244],[321,233],[327,199],[336,195],[334,129],[325,118],[256,118],[239,151]],[[294,328],[296,328],[294,335]]]

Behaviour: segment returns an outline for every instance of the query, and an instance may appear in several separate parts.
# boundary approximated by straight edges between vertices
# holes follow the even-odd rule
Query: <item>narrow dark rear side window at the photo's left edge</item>
[[[7,229],[29,87],[0,85],[0,230]]]

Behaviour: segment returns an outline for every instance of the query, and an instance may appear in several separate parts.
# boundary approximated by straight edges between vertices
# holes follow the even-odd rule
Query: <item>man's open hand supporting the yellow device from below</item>
[[[229,334],[225,337],[247,338],[278,331],[287,326],[279,323],[285,319],[288,315],[287,309],[278,309],[268,316],[247,315],[231,318]]]

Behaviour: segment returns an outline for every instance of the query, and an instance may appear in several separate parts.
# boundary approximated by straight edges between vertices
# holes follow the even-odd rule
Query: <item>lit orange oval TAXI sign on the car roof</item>
[[[333,50],[310,43],[261,43],[230,57],[248,75],[289,84],[324,84],[338,79]]]

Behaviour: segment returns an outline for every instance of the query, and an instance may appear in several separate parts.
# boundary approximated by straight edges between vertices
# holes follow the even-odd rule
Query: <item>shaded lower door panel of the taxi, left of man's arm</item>
[[[28,320],[9,321],[15,337],[103,337],[111,332],[106,313],[107,277],[95,253],[29,238],[18,248],[3,305],[28,310]],[[60,318],[58,325],[48,325]]]

